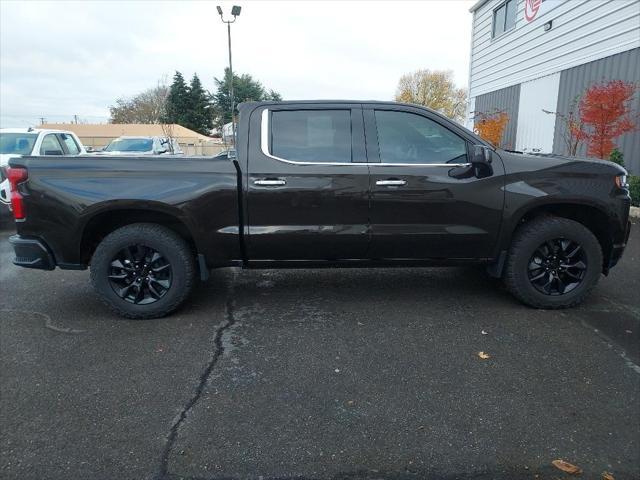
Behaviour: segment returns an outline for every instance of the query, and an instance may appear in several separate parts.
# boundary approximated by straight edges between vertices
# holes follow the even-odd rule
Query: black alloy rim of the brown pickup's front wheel
[[[554,238],[533,252],[528,277],[539,292],[564,295],[582,283],[587,267],[587,255],[582,245],[566,238]]]

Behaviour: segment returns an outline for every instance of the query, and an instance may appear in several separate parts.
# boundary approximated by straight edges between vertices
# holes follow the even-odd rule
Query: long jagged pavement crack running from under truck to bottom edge
[[[163,479],[170,478],[168,473],[169,455],[171,454],[171,450],[173,449],[175,441],[178,437],[178,430],[180,429],[180,425],[182,425],[182,423],[186,420],[187,415],[189,414],[191,409],[196,405],[196,403],[198,403],[198,400],[200,400],[200,397],[202,396],[202,392],[204,391],[204,387],[209,381],[209,377],[211,376],[213,369],[218,363],[218,360],[220,359],[220,357],[222,357],[222,355],[224,354],[224,345],[222,343],[222,336],[228,329],[233,327],[233,325],[235,324],[235,318],[233,315],[233,307],[235,304],[234,296],[233,296],[234,283],[235,283],[235,275],[231,279],[231,282],[227,288],[227,299],[225,302],[225,317],[226,317],[225,322],[218,327],[214,335],[213,343],[215,345],[215,349],[212,353],[209,363],[207,363],[204,371],[200,375],[200,380],[198,382],[198,385],[196,386],[195,391],[193,392],[193,395],[187,401],[187,403],[185,403],[180,413],[173,420],[173,423],[169,430],[169,434],[167,435],[167,441],[162,451],[162,456],[160,457],[160,466],[158,468],[157,474],[153,477],[155,480],[163,480]]]

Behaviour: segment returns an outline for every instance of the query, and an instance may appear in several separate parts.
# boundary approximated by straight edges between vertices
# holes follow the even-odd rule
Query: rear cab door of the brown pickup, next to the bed
[[[369,170],[360,105],[254,110],[247,172],[250,262],[366,258]]]

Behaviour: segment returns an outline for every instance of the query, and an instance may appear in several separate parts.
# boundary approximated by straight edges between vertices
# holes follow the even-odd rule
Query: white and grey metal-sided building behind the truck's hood
[[[566,113],[603,80],[640,86],[638,0],[480,0],[471,12],[468,126],[473,112],[506,111],[508,148],[565,154],[562,122],[543,110]],[[640,174],[640,130],[615,143]]]

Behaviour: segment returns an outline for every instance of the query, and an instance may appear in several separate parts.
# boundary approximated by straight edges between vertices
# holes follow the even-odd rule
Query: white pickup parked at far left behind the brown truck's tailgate
[[[0,129],[0,202],[9,204],[9,180],[5,174],[9,160],[23,155],[86,155],[73,132],[38,128]]]

